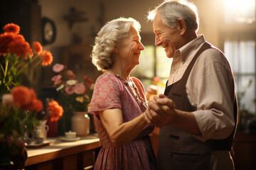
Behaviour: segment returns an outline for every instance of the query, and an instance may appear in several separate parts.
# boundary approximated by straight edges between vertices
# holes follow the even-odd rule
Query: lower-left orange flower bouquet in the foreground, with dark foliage
[[[27,157],[25,147],[35,141],[28,133],[32,134],[41,120],[56,121],[62,114],[63,108],[56,101],[50,101],[43,111],[35,91],[26,86],[15,86],[10,94],[4,94],[0,103],[0,161],[10,159],[22,169]]]

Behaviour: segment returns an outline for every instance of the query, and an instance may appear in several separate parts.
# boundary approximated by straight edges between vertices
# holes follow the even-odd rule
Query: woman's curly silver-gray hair
[[[99,71],[112,67],[114,48],[127,38],[129,30],[133,26],[138,32],[141,25],[134,18],[117,18],[105,24],[97,33],[95,45],[92,48],[92,64]]]

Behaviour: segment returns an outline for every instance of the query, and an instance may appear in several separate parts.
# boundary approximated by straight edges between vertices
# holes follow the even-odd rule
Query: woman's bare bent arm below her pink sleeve
[[[144,113],[126,123],[123,123],[122,111],[119,108],[102,111],[99,115],[114,147],[132,141],[147,125]]]

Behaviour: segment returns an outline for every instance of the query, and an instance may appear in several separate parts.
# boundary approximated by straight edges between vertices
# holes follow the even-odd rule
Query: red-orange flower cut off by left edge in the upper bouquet
[[[14,33],[3,33],[0,35],[0,55],[9,52],[9,43],[14,40]]]

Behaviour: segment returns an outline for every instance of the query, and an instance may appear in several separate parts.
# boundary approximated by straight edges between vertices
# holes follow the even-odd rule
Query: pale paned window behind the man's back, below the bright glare
[[[225,41],[240,109],[255,113],[255,41]]]

